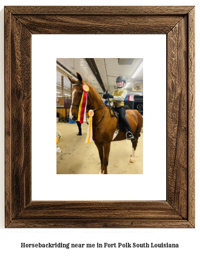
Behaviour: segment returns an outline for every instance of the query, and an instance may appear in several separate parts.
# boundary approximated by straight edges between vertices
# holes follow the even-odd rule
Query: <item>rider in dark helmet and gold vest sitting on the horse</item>
[[[126,83],[125,77],[118,76],[116,79],[116,83],[117,83],[118,89],[116,91],[114,91],[112,93],[112,95],[106,91],[106,93],[103,95],[103,98],[106,98],[106,99],[110,98],[110,101],[113,101],[114,110],[117,113],[119,113],[120,120],[122,121],[122,123],[124,124],[126,129],[128,130],[128,132],[126,133],[126,138],[131,139],[132,141],[135,141],[136,137],[135,137],[134,133],[132,132],[129,123],[125,119],[124,98],[127,95],[127,90],[123,88],[123,86]]]

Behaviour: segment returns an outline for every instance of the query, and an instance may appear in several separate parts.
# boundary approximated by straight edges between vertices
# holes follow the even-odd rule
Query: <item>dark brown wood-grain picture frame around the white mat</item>
[[[167,35],[166,201],[31,200],[32,34]],[[5,155],[6,227],[193,228],[194,7],[5,7]]]

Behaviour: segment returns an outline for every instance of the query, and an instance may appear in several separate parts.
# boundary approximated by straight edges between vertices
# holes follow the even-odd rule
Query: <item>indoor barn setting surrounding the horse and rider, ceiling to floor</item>
[[[56,146],[57,174],[98,174],[100,158],[94,141],[85,143],[88,125],[81,125],[82,135],[76,121],[70,119],[73,84],[68,76],[77,79],[78,72],[84,81],[92,85],[103,101],[103,94],[117,90],[116,78],[124,76],[127,96],[124,105],[138,110],[143,116],[143,59],[56,59],[56,130],[61,134]],[[138,140],[135,161],[130,162],[132,143],[129,140],[111,142],[108,174],[143,174],[143,127]]]

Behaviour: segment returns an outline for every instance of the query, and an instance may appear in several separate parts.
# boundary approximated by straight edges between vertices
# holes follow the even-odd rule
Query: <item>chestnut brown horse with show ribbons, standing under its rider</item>
[[[108,107],[105,107],[103,101],[96,89],[88,82],[84,82],[81,75],[77,73],[78,81],[68,77],[74,84],[72,90],[72,106],[70,109],[70,118],[73,121],[78,119],[79,105],[83,93],[82,84],[87,84],[90,88],[87,100],[87,110],[95,110],[93,116],[93,140],[99,150],[101,160],[101,170],[99,174],[107,174],[108,157],[110,152],[111,141],[119,141],[126,139],[126,133],[119,130],[117,136],[113,139],[116,130],[117,119],[111,117]],[[77,85],[79,84],[79,85]],[[101,107],[102,106],[102,107]],[[100,108],[101,107],[101,108]],[[135,151],[138,144],[138,138],[143,126],[143,117],[137,110],[126,110],[130,127],[136,136],[136,141],[132,142],[132,154],[130,163],[134,163]],[[112,112],[111,112],[112,113]],[[113,114],[113,113],[112,113]],[[100,122],[101,121],[101,122]]]

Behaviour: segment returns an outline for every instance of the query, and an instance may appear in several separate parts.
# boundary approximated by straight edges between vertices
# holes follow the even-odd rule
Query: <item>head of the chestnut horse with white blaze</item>
[[[81,98],[82,98],[82,94],[83,94],[83,89],[82,89],[82,85],[84,84],[84,80],[82,79],[81,75],[79,73],[77,73],[77,78],[78,80],[74,80],[71,77],[69,77],[69,80],[71,81],[71,83],[73,83],[73,89],[72,89],[72,105],[70,108],[70,118],[73,121],[77,121],[78,120],[78,114],[79,114],[79,106],[81,103]]]

